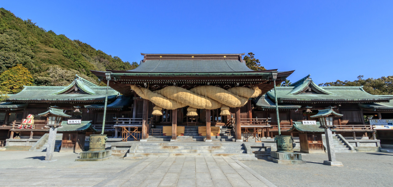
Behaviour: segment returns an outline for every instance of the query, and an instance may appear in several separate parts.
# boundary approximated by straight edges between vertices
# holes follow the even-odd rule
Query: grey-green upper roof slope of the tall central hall
[[[253,71],[239,60],[146,60],[132,72],[150,73],[208,73]]]

